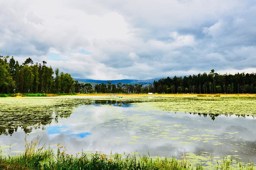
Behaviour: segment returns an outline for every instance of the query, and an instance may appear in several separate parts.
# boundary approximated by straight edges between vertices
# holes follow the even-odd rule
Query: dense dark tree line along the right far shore
[[[154,81],[153,87],[157,93],[256,93],[256,74],[220,75],[212,69],[209,74],[162,78]]]

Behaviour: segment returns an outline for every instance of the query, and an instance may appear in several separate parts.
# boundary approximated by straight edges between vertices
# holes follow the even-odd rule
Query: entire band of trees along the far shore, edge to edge
[[[9,59],[9,62],[8,62]],[[55,73],[55,74],[54,74]],[[256,93],[255,73],[220,75],[214,69],[207,74],[198,73],[173,78],[167,77],[153,84],[107,84],[92,86],[79,83],[68,73],[47,67],[46,62],[34,64],[27,58],[22,64],[13,57],[0,55],[0,93]]]

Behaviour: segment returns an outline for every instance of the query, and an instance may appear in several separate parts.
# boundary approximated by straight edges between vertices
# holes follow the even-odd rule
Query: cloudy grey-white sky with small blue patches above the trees
[[[0,55],[74,79],[256,72],[255,0],[2,0]]]

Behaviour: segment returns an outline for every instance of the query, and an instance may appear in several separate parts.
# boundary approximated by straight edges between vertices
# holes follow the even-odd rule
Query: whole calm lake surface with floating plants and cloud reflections
[[[0,98],[3,153],[24,151],[24,137],[42,135],[67,153],[182,152],[256,162],[255,97]],[[11,147],[11,149],[10,149]],[[188,154],[189,155],[189,154]]]

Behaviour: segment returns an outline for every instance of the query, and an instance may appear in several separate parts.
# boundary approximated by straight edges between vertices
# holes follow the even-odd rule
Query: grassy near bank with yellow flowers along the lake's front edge
[[[15,156],[2,156],[0,154],[0,169],[8,170],[228,170],[228,169],[255,169],[253,164],[241,163],[238,159],[233,160],[231,157],[223,157],[219,162],[210,161],[209,165],[205,167],[202,163],[191,165],[190,161],[183,154],[183,159],[176,159],[172,157],[152,158],[148,154],[111,154],[105,155],[100,152],[85,153],[78,152],[76,155],[69,155],[66,153],[65,146],[57,145],[57,154],[53,149],[46,148],[43,145],[41,148],[36,148],[40,143],[37,137],[31,142],[27,142],[25,137],[25,152]],[[210,157],[211,158],[211,157]]]

